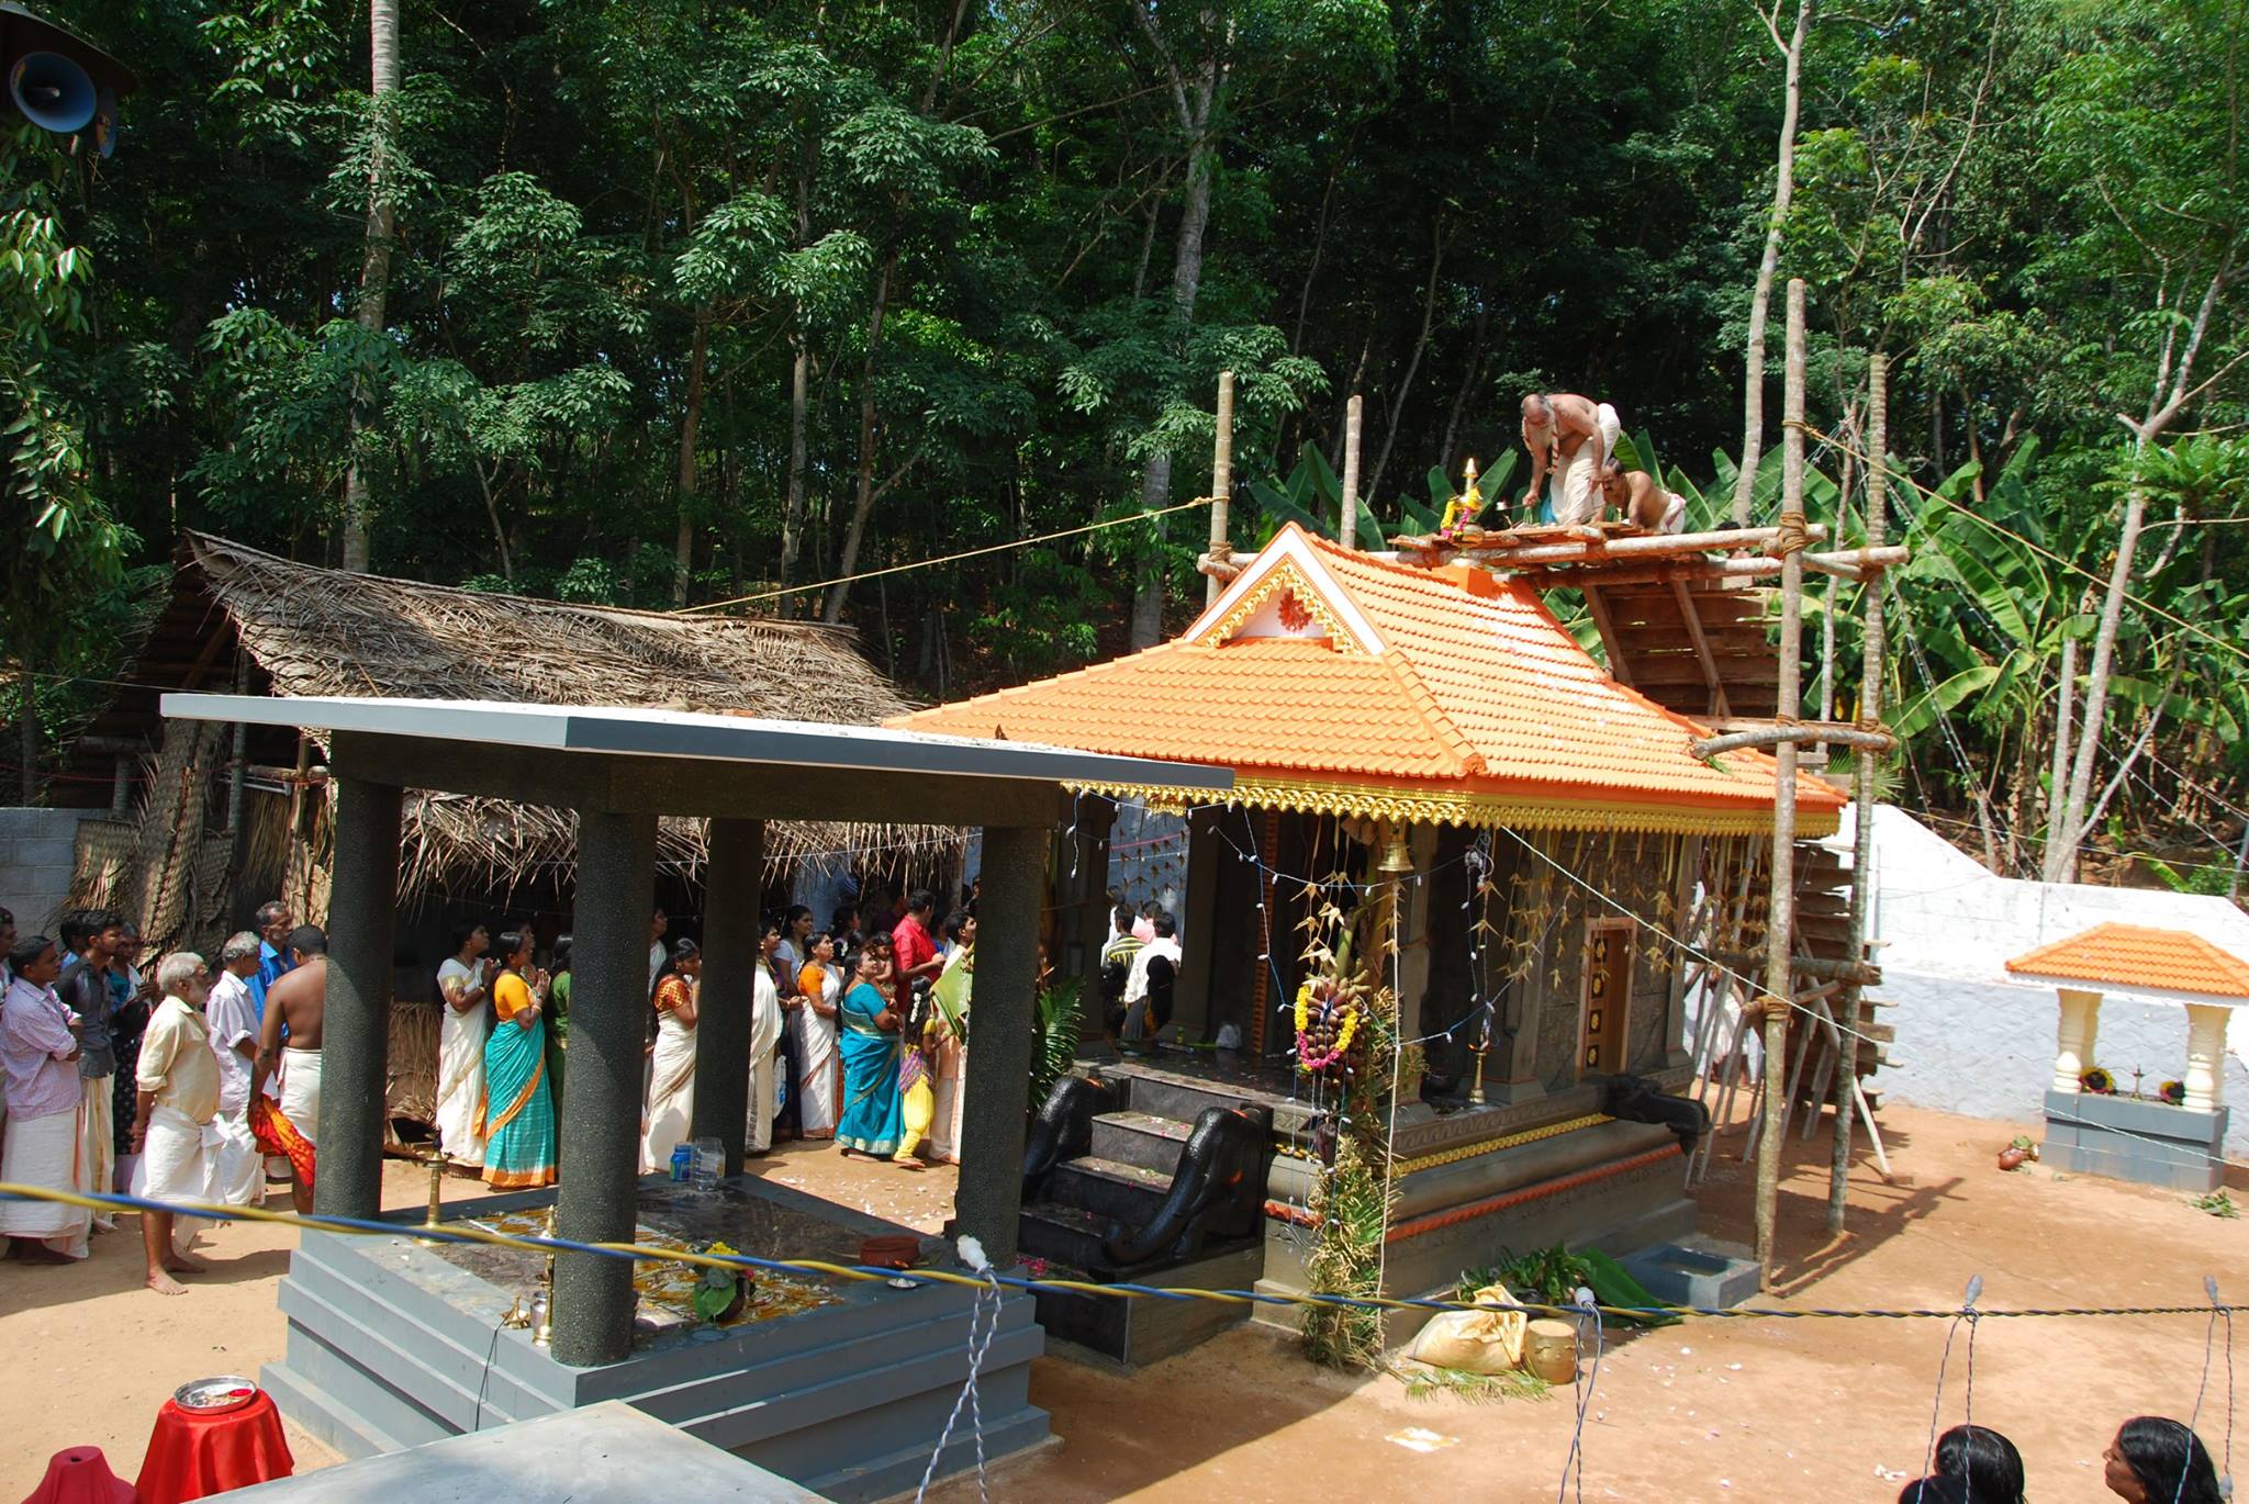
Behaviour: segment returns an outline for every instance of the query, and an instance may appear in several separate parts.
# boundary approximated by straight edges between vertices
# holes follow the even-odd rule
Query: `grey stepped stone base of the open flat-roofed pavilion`
[[[663,1187],[661,1180],[643,1185],[643,1221],[661,1225],[650,1205],[663,1203]],[[493,1216],[547,1198],[472,1205]],[[776,1205],[792,1221],[830,1223],[852,1248],[861,1236],[906,1232],[760,1180],[729,1183],[715,1221],[726,1221],[731,1207],[747,1225],[771,1225]],[[717,1227],[711,1234],[724,1236]],[[769,1245],[747,1232],[726,1241]],[[888,1497],[920,1482],[967,1378],[976,1293],[963,1286],[895,1290],[875,1281],[839,1281],[830,1306],[715,1335],[636,1342],[623,1362],[573,1369],[535,1347],[526,1331],[502,1326],[520,1288],[486,1277],[497,1268],[481,1257],[490,1250],[475,1252],[441,1257],[405,1230],[396,1239],[306,1232],[281,1281],[288,1349],[261,1376],[281,1412],[344,1457],[369,1457],[625,1401],[769,1473],[850,1502]],[[774,1252],[834,1257],[832,1248]],[[987,1457],[1046,1441],[1046,1412],[1030,1403],[1030,1362],[1041,1351],[1030,1295],[1008,1295],[978,1383]],[[974,1461],[972,1439],[956,1428],[938,1473]]]

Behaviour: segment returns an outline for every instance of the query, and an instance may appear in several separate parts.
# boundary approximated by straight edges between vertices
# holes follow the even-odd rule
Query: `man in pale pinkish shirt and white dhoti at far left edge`
[[[0,1180],[49,1192],[94,1189],[92,1162],[79,1153],[85,1086],[79,1081],[79,1039],[70,1009],[54,996],[61,951],[45,935],[9,951],[13,973],[0,996],[0,1070],[7,1072],[7,1142]],[[106,1086],[106,1084],[103,1084]],[[0,1201],[0,1234],[9,1257],[25,1263],[70,1263],[85,1257],[94,1216],[58,1201]]]

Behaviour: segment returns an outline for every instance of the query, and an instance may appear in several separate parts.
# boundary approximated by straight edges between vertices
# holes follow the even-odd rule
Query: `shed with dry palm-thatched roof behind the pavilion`
[[[209,940],[274,893],[299,913],[326,910],[328,800],[317,740],[157,715],[166,690],[223,688],[573,699],[857,724],[911,708],[841,627],[353,576],[187,533],[171,598],[115,701],[79,737],[74,778],[56,789],[97,803],[115,776],[112,818],[81,825],[76,897],[117,904],[157,944]],[[767,859],[938,854],[956,839],[951,830],[839,818],[776,825]],[[504,897],[567,872],[573,850],[567,812],[416,791],[405,807],[400,895]],[[702,857],[702,823],[666,821],[659,861],[688,875]]]

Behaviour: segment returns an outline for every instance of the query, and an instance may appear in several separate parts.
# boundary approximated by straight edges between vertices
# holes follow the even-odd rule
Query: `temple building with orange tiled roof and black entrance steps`
[[[1754,594],[1727,594],[1754,611]],[[1055,863],[1048,940],[1064,971],[1091,971],[1104,935],[1113,800],[1187,818],[1176,1045],[1089,1066],[1116,1111],[1044,1178],[1028,1252],[1100,1270],[1107,1243],[1116,1266],[1116,1230],[1178,1203],[1190,1122],[1257,1102],[1275,1147],[1262,1234],[1181,1239],[1172,1263],[1178,1284],[1304,1286],[1318,1174],[1316,1093],[1291,1061],[1304,919],[1390,879],[1388,980],[1428,1077],[1397,1090],[1383,1290],[1446,1288],[1502,1248],[1628,1254],[1691,1232],[1682,1140],[1698,1111],[1673,1097],[1691,1072],[1685,1000],[1754,971],[1777,764],[1698,758],[1709,726],[1619,683],[1532,580],[1286,526],[1178,638],[891,724],[1232,773],[1223,798],[1077,785],[1082,850]],[[1844,803],[1804,778],[1799,839],[1833,832]]]

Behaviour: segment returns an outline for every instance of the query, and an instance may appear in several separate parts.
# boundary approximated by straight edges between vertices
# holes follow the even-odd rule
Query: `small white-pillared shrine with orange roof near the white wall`
[[[2249,1005],[2249,962],[2186,931],[2096,924],[2017,955],[2006,969],[2026,982],[2053,982],[2062,1000],[2044,1165],[2179,1192],[2224,1185],[2227,1021]],[[2110,991],[2186,1009],[2186,1061],[2177,1079],[2155,1090],[2141,1090],[2141,1079],[2123,1088],[2101,1063],[2101,998]]]

